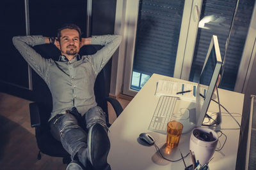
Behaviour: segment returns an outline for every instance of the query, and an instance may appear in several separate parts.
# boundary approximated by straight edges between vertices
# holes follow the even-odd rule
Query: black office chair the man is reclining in
[[[84,51],[87,55],[97,52],[97,50],[95,50],[95,48],[93,48],[92,46],[88,46]],[[103,69],[102,71],[100,71],[95,80],[94,91],[95,99],[98,106],[100,106],[107,115],[107,125],[109,127],[110,124],[108,120],[108,102],[111,103],[111,105],[113,106],[116,117],[120,115],[120,113],[123,111],[123,108],[116,99],[106,96]],[[53,138],[50,132],[48,120],[51,116],[51,110],[52,104],[29,104],[31,127],[35,127],[36,142],[39,148],[38,159],[41,159],[40,153],[42,152],[52,157],[63,157],[63,164],[68,164],[71,161],[69,153],[67,153],[67,151],[63,148],[60,141],[57,141]]]

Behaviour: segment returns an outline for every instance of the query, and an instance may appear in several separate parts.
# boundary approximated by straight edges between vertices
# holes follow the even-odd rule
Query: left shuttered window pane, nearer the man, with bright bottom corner
[[[184,0],[140,0],[132,89],[153,73],[173,76],[183,9]]]

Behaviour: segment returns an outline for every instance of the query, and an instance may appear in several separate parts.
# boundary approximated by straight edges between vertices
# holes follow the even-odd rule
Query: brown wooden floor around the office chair
[[[118,99],[123,108],[128,100]],[[38,160],[35,129],[30,126],[29,103],[25,99],[0,93],[0,169],[65,169],[61,158],[42,153]],[[115,116],[109,107],[109,122]]]

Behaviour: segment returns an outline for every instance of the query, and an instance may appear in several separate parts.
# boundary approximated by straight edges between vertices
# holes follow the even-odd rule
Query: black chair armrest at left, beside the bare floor
[[[37,103],[29,103],[30,123],[31,127],[40,127],[40,113]]]

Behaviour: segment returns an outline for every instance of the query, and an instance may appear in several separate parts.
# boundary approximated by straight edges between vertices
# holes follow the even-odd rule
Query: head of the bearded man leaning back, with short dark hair
[[[75,24],[65,24],[58,29],[58,48],[68,60],[76,57],[81,47],[81,29]]]

